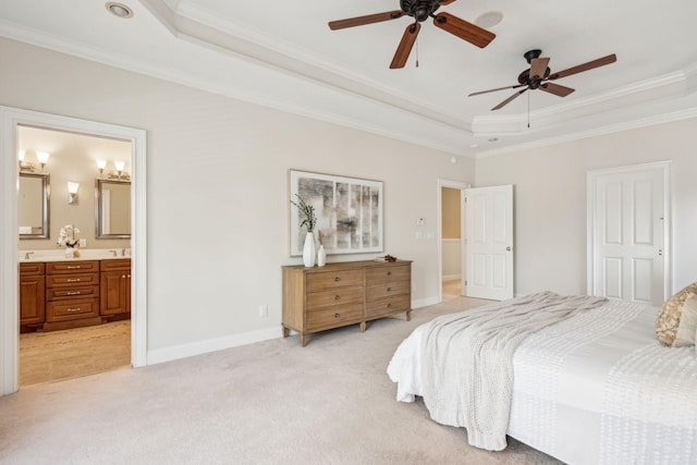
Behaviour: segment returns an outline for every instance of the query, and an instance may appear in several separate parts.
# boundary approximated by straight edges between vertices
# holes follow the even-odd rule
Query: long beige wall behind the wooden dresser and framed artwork
[[[472,183],[473,161],[5,39],[0,62],[0,105],[147,131],[148,351],[280,334],[289,169],[383,181],[384,250],[437,298],[438,180]]]

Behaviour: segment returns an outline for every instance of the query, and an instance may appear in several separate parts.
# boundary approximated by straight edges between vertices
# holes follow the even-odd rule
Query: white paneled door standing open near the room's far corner
[[[465,290],[469,297],[513,297],[513,186],[465,192]]]

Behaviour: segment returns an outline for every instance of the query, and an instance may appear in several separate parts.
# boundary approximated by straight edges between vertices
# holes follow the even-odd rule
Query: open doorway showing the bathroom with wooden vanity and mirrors
[[[127,367],[132,143],[16,131],[20,389]]]

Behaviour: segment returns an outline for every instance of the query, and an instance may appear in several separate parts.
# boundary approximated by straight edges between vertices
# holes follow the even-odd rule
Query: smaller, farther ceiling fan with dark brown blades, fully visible
[[[518,87],[525,87],[524,89],[516,91],[511,97],[506,98],[501,103],[493,107],[491,111],[503,108],[504,106],[509,105],[513,99],[515,99],[519,95],[523,95],[528,89],[529,90],[540,89],[548,94],[553,94],[559,97],[566,97],[568,94],[573,93],[575,89],[572,89],[571,87],[560,86],[559,84],[550,83],[550,81],[557,81],[561,77],[566,77],[566,76],[571,76],[572,74],[583,73],[584,71],[589,71],[596,68],[604,66],[606,64],[614,63],[615,61],[617,61],[617,57],[614,53],[612,53],[607,57],[602,57],[597,60],[589,61],[587,63],[578,64],[567,70],[552,73],[550,69],[547,66],[547,64],[549,63],[549,58],[540,58],[540,54],[542,54],[542,50],[538,50],[538,49],[529,50],[523,54],[523,57],[525,57],[527,62],[530,64],[530,68],[523,71],[518,75],[519,84],[473,93],[473,94],[469,94],[468,97],[493,93],[497,90],[515,89]]]

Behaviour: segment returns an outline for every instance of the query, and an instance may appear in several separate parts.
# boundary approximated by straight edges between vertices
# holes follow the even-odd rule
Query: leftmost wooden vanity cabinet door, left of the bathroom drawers
[[[46,266],[20,264],[20,331],[41,329],[46,321]]]

